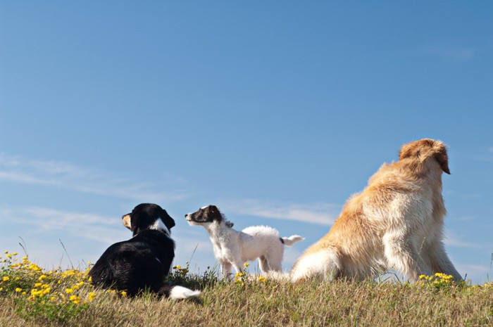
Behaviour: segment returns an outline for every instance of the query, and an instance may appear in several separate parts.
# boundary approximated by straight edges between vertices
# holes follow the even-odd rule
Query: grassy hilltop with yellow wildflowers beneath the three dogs
[[[44,271],[15,255],[3,264],[0,326],[493,326],[493,284],[456,285],[445,275],[292,284],[248,274],[220,281],[216,271],[175,267],[170,280],[202,294],[170,301],[95,290],[87,267]]]

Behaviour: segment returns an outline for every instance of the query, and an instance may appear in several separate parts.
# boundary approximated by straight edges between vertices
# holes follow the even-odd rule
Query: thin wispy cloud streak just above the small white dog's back
[[[261,200],[220,200],[220,208],[227,215],[242,214],[280,220],[295,220],[312,224],[331,225],[335,221],[337,205],[328,203],[285,204]]]

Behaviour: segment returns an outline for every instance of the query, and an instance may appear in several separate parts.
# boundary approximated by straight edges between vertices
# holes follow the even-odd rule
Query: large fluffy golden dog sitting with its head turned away
[[[436,272],[462,281],[442,243],[442,172],[450,174],[441,141],[402,146],[399,161],[382,165],[363,192],[349,198],[332,229],[301,255],[291,280],[362,279],[392,269],[411,281]]]

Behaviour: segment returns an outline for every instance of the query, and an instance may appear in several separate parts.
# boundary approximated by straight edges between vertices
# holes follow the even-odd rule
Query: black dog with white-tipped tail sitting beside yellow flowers
[[[199,290],[171,286],[164,281],[175,257],[175,242],[170,238],[170,229],[175,226],[175,221],[166,210],[158,205],[142,203],[122,219],[134,237],[111,245],[101,255],[89,271],[95,286],[125,290],[130,296],[142,290],[170,299],[200,294]]]

